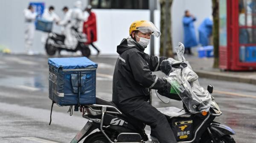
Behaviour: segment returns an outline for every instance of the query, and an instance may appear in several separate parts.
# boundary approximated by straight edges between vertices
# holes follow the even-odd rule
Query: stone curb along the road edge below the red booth
[[[205,70],[194,70],[194,72],[201,78],[218,79],[222,81],[242,82],[242,83],[256,85],[256,78],[252,79],[245,76],[230,75],[227,73],[216,73],[216,72],[205,71]]]

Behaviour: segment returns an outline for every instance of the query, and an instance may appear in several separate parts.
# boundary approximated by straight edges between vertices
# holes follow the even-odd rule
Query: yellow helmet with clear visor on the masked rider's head
[[[152,22],[146,20],[132,22],[129,30],[129,35],[131,36],[132,32],[136,30],[142,32],[143,34],[152,33],[152,35],[156,37],[159,37],[161,35],[161,32],[158,30],[158,28]]]

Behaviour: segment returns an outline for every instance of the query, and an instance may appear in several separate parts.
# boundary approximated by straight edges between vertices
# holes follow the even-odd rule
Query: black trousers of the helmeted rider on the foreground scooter
[[[160,143],[177,143],[165,115],[148,102],[145,101],[132,112],[126,114],[149,125],[151,127],[151,135],[157,137]]]

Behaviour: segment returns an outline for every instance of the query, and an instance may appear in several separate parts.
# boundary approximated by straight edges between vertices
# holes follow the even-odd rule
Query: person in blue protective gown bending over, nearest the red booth
[[[207,17],[198,28],[199,43],[202,46],[209,45],[209,37],[212,35],[212,18]]]

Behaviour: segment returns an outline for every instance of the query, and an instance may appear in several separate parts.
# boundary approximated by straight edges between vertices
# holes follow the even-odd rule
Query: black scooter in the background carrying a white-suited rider
[[[64,35],[56,34],[54,32],[49,33],[45,43],[45,50],[49,56],[55,55],[56,51],[58,51],[60,55],[61,50],[66,50],[69,52],[76,52],[80,50],[83,56],[90,56],[89,45],[85,44],[85,42],[87,41],[86,35],[79,33],[77,28],[72,27],[72,30],[74,36],[78,41],[77,45],[73,47],[64,44],[66,38]]]

